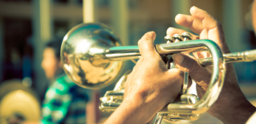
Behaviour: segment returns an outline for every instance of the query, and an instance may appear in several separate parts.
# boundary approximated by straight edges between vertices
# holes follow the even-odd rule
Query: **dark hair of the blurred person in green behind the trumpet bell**
[[[62,45],[62,39],[52,39],[46,43],[46,48],[52,48],[55,52],[55,56],[60,59],[60,47]]]

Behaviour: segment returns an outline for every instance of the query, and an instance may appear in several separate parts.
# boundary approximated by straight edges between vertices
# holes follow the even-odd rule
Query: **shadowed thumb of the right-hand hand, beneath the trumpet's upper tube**
[[[203,86],[203,84],[210,82],[212,74],[207,68],[202,67],[196,59],[192,58],[192,56],[186,54],[174,54],[172,55],[172,59],[177,68],[184,72],[189,72],[190,77],[199,85]]]

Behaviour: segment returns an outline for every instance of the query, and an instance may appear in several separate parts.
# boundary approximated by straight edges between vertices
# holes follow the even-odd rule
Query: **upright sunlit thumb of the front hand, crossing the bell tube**
[[[156,55],[156,49],[154,47],[154,40],[156,39],[155,32],[147,32],[138,41],[138,49],[140,50],[141,56],[152,56]]]

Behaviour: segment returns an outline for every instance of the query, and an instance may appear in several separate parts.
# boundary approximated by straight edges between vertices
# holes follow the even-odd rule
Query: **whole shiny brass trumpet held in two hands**
[[[225,79],[225,64],[256,59],[256,50],[223,54],[213,41],[190,39],[188,33],[165,37],[167,43],[156,44],[155,48],[167,65],[170,65],[172,54],[210,52],[212,57],[198,59],[203,66],[212,65],[212,77],[208,90],[201,99],[194,94],[181,94],[180,101],[166,105],[156,114],[154,123],[161,123],[162,120],[170,122],[196,120],[217,101]],[[140,58],[138,46],[122,46],[121,44],[116,32],[102,23],[77,25],[66,34],[62,42],[62,65],[74,83],[84,88],[99,89],[117,82],[113,91],[108,91],[100,99],[101,110],[114,111],[122,103],[124,84],[127,75],[131,72],[128,71],[121,76],[120,72],[125,66],[123,61]],[[188,74],[185,75],[188,77]]]

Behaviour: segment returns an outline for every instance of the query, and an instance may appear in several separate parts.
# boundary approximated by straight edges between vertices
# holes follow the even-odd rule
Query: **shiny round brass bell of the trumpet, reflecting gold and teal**
[[[64,71],[80,87],[98,89],[116,81],[122,61],[107,61],[107,48],[121,45],[118,35],[102,23],[82,23],[71,29],[62,42]]]

